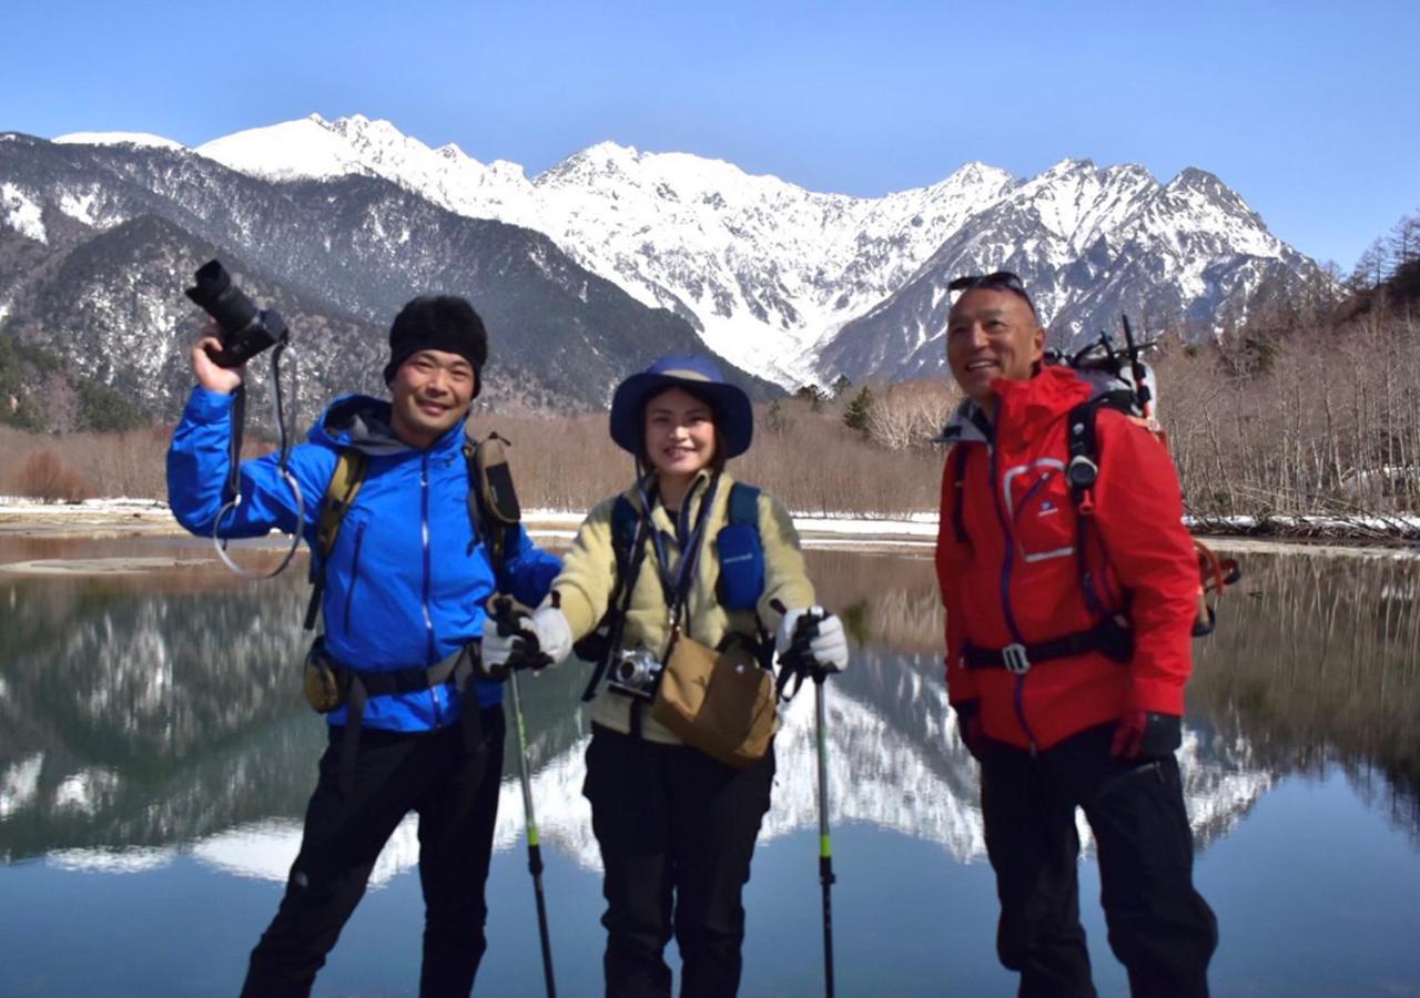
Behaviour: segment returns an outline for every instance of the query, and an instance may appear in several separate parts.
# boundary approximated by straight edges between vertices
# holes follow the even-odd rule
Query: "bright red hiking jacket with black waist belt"
[[[1099,620],[1081,585],[1078,514],[1065,481],[1066,415],[1095,389],[1068,368],[1047,366],[1025,382],[997,380],[993,390],[994,427],[973,420],[968,402],[946,433],[957,443],[941,480],[937,581],[951,703],[978,700],[987,737],[1041,750],[1126,710],[1181,715],[1198,562],[1183,525],[1179,476],[1147,429],[1109,407],[1095,423],[1099,477],[1085,558],[1099,598],[1132,626],[1133,657],[1119,663],[1085,652],[1032,663],[1024,674],[964,667],[967,642],[1034,645]],[[958,497],[960,460],[967,468]],[[956,532],[958,500],[964,544]]]

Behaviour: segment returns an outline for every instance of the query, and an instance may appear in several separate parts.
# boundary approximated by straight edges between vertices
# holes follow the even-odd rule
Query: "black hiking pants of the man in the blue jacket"
[[[487,948],[483,889],[503,775],[503,708],[483,710],[480,721],[477,750],[466,745],[460,725],[413,734],[365,728],[348,792],[341,789],[342,728],[331,728],[301,850],[281,907],[251,951],[244,998],[311,992],[375,859],[410,811],[419,815],[425,893],[419,994],[467,998]]]

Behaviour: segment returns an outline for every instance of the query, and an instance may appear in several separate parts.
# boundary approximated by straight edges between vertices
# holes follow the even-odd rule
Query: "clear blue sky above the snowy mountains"
[[[876,196],[1184,166],[1349,270],[1420,213],[1420,3],[4,0],[0,131],[388,118],[537,173],[612,139]]]

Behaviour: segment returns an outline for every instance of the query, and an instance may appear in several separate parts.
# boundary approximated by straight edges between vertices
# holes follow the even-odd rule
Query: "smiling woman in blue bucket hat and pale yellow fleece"
[[[744,768],[727,765],[660,724],[649,698],[672,606],[684,635],[753,669],[791,646],[814,605],[788,512],[724,470],[753,434],[750,399],[707,358],[666,356],[628,378],[612,399],[611,436],[636,457],[638,480],[591,511],[552,593],[520,619],[521,633],[484,635],[484,660],[494,666],[534,639],[552,662],[575,639],[605,639],[599,656],[588,645],[578,650],[611,663],[608,681],[594,680],[584,786],[605,869],[608,995],[669,997],[662,954],[672,933],[683,997],[738,989],[741,892],[770,806],[772,744]],[[738,522],[746,518],[753,522]],[[757,544],[726,556],[737,524],[757,531]],[[755,554],[763,569],[751,578],[743,566]],[[818,620],[807,649],[818,667],[843,669],[839,619]]]

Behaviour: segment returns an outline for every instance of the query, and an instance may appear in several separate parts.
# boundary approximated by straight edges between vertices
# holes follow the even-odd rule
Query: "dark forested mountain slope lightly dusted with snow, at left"
[[[456,214],[383,177],[274,183],[126,133],[85,139],[0,133],[0,321],[65,376],[148,417],[175,416],[186,395],[202,318],[182,288],[213,256],[291,324],[308,399],[381,392],[389,319],[430,291],[476,302],[494,344],[484,397],[500,405],[601,409],[652,358],[704,349],[684,319],[547,236]]]

